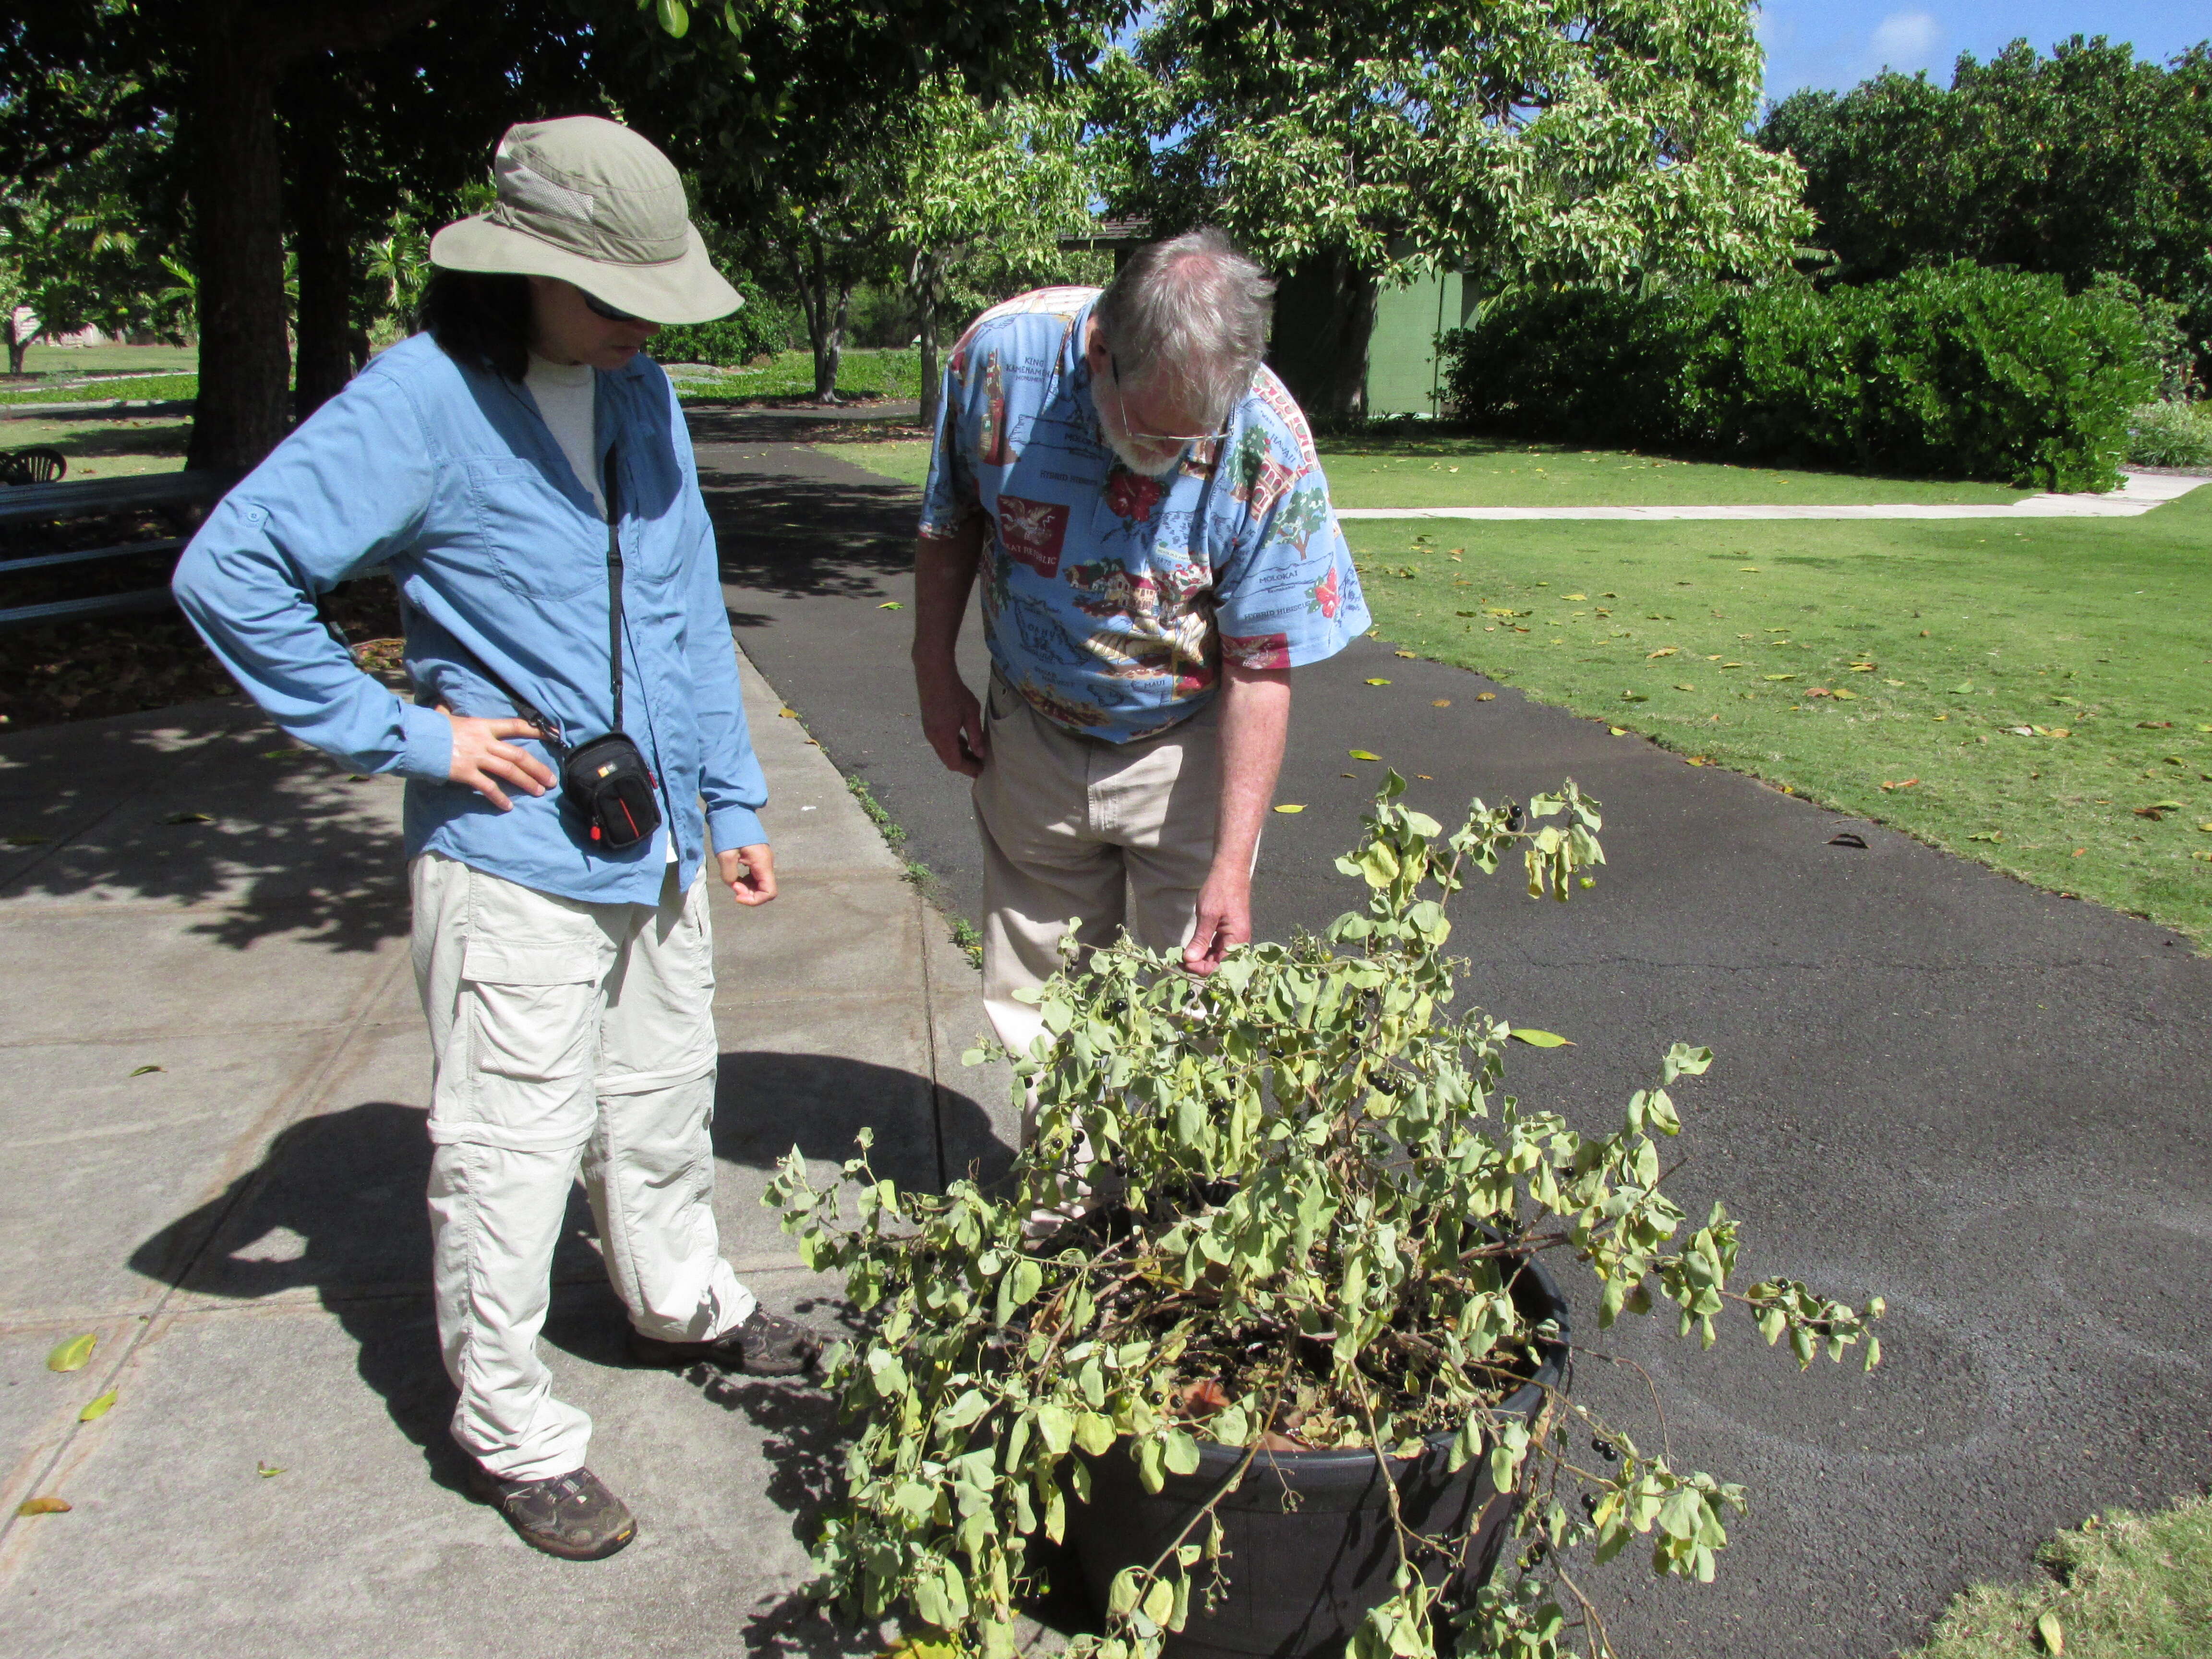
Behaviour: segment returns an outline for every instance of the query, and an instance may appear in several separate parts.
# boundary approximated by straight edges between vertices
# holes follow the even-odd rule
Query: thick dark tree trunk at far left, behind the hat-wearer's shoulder
[[[201,11],[181,126],[199,274],[199,409],[186,467],[243,471],[285,436],[292,361],[274,66],[234,0]]]

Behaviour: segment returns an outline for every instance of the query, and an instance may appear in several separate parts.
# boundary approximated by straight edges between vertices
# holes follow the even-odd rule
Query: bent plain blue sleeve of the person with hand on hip
[[[199,526],[170,584],[223,668],[292,737],[361,772],[445,781],[453,728],[361,672],[316,597],[409,546],[436,462],[403,385],[358,376]]]

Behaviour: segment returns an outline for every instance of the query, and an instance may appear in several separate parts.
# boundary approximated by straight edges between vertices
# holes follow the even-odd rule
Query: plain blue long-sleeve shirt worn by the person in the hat
[[[653,905],[675,836],[688,887],[717,847],[768,841],[714,529],[675,389],[644,356],[597,374],[599,465],[617,449],[624,728],[661,783],[664,827],[597,852],[560,790],[500,812],[451,783],[456,714],[513,706],[489,668],[575,743],[613,726],[606,520],[526,387],[462,369],[429,336],[394,345],[208,515],[177,604],[279,726],[363,772],[407,779],[407,856],[442,852],[588,902]],[[363,675],[316,595],[387,566],[405,597],[420,703]],[[522,739],[555,770],[557,757]]]

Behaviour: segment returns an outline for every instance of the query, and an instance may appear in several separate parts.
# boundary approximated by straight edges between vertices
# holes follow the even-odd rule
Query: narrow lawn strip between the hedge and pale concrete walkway
[[[885,478],[920,484],[927,442],[838,447]],[[1836,502],[2017,502],[2004,484],[1860,478],[1719,467],[1621,449],[1498,445],[1486,438],[1325,440],[1321,467],[1338,507],[1736,507]]]

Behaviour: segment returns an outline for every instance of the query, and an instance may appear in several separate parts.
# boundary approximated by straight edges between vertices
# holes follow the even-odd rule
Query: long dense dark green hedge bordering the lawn
[[[1444,336],[1462,420],[2042,489],[2112,489],[2157,369],[2110,290],[1966,261],[1820,290],[1511,290]]]

